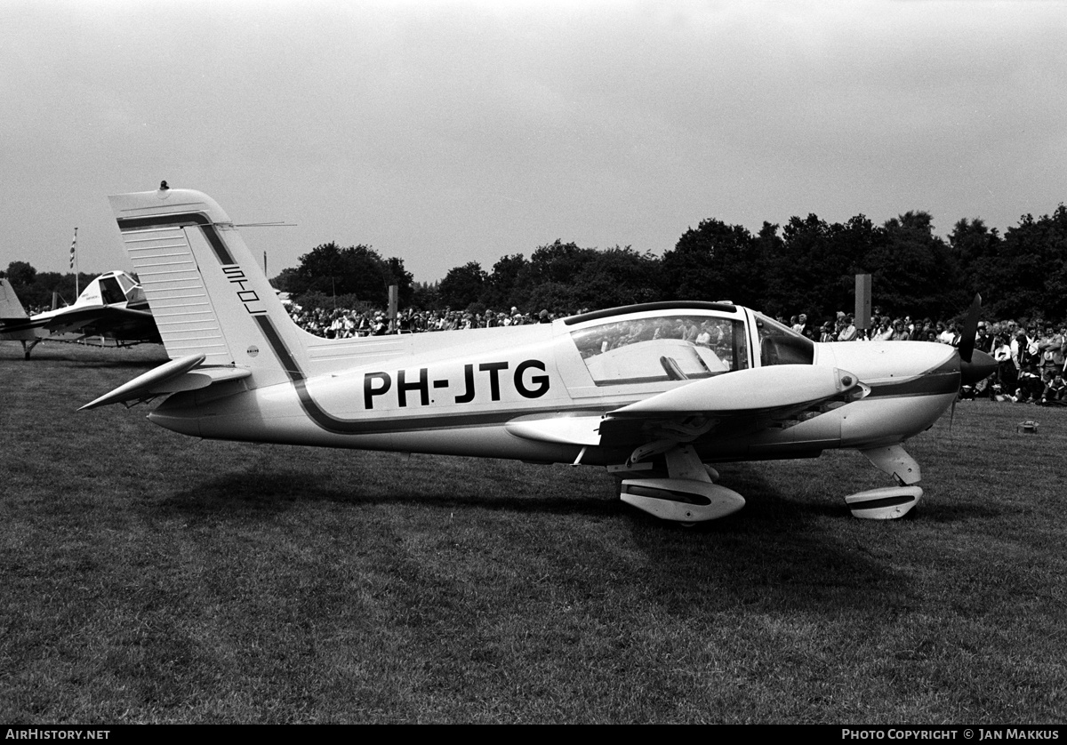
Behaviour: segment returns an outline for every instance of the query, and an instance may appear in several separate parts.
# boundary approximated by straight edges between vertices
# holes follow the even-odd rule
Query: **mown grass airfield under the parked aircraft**
[[[685,529],[593,469],[75,411],[164,360],[0,345],[2,723],[1067,719],[1065,411],[961,402],[914,518],[851,518],[846,451]]]

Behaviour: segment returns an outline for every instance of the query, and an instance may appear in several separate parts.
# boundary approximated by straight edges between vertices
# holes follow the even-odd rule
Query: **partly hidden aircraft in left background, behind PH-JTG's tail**
[[[6,280],[0,280],[0,340],[21,342],[27,360],[41,342],[85,342],[101,346],[159,343],[141,286],[124,271],[100,274],[73,305],[30,316]]]

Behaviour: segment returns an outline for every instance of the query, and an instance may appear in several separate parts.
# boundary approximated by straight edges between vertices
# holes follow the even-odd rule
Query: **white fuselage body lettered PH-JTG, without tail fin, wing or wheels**
[[[630,347],[625,353],[633,356],[643,346],[651,362],[646,368],[631,364],[631,369],[605,372],[590,362],[596,355],[583,356],[577,340],[598,326],[643,320],[676,328],[679,318],[736,324],[734,364],[764,363],[760,320],[749,311],[638,311],[606,322],[568,319],[359,340],[352,350],[366,344],[365,354],[372,359],[364,362],[353,354],[349,369],[307,377],[299,371],[290,380],[251,391],[237,381],[179,393],[149,418],[209,439],[531,461],[574,462],[590,445],[583,463],[617,463],[628,455],[631,444],[596,444],[596,422],[620,407],[688,384],[689,379],[671,380],[659,366],[659,352],[686,343],[660,336],[617,347]],[[853,372],[870,387],[866,395],[800,412],[771,428],[753,427],[749,418],[723,418],[694,441],[703,460],[811,457],[827,448],[899,443],[936,422],[958,389],[955,350],[945,345],[811,346],[810,364]],[[753,392],[753,398],[760,394]],[[560,417],[573,418],[576,429],[588,433],[588,442],[580,437],[554,442],[516,434],[516,421],[532,423],[536,431],[538,421]]]

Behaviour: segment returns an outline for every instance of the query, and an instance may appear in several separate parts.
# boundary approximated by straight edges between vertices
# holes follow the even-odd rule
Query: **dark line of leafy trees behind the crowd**
[[[809,215],[784,225],[765,222],[755,234],[707,219],[663,256],[556,240],[528,258],[501,256],[488,271],[468,261],[436,283],[414,282],[402,259],[383,258],[371,247],[331,242],[272,282],[300,304],[324,307],[384,308],[388,286],[397,285],[401,308],[560,314],[729,300],[773,315],[825,318],[851,312],[858,273],[872,275],[874,304],[887,315],[951,318],[981,292],[991,318],[1067,319],[1067,208],[1025,215],[1003,235],[981,219],[962,219],[946,238],[934,235],[924,211],[881,225],[862,215],[844,223]],[[23,261],[6,274],[28,305],[49,304],[57,289],[64,297],[74,290],[73,274],[37,274]]]

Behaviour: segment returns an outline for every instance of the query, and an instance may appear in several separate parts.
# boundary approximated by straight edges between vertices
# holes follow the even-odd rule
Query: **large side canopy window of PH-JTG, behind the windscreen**
[[[745,326],[729,318],[624,318],[571,338],[596,385],[710,378],[748,367]]]

